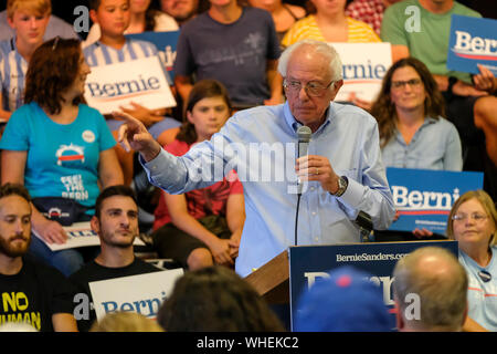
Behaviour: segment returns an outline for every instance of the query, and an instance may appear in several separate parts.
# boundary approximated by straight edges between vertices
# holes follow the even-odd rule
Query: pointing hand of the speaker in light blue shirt
[[[113,112],[113,115],[125,121],[125,124],[119,127],[118,134],[118,142],[125,150],[134,149],[140,153],[146,162],[159,155],[161,146],[148,133],[144,123],[124,112]]]

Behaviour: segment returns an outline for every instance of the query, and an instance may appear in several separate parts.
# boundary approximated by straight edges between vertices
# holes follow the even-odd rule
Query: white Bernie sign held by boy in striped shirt
[[[102,114],[130,107],[130,102],[149,110],[176,106],[165,69],[158,56],[93,66],[86,77],[85,98]]]

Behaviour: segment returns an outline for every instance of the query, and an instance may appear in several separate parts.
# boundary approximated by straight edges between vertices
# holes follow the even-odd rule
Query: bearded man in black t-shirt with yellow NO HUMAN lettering
[[[0,187],[0,325],[76,332],[70,282],[54,268],[24,258],[31,241],[30,201],[23,186]]]

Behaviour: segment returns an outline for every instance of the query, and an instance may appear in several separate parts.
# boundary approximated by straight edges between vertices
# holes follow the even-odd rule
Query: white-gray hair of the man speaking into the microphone
[[[279,61],[278,61],[278,72],[279,72],[279,74],[282,74],[283,77],[286,76],[288,61],[292,58],[293,52],[297,48],[300,48],[302,45],[313,46],[314,50],[316,51],[316,53],[320,53],[324,56],[328,58],[328,60],[329,60],[329,70],[330,70],[330,73],[331,73],[331,80],[334,82],[337,82],[337,81],[342,79],[342,75],[341,75],[341,60],[340,60],[340,56],[338,55],[337,51],[335,50],[335,48],[332,48],[328,43],[320,42],[320,41],[315,41],[315,40],[302,40],[302,41],[298,41],[298,42],[289,45],[288,48],[286,48],[283,51],[282,55],[279,56]]]

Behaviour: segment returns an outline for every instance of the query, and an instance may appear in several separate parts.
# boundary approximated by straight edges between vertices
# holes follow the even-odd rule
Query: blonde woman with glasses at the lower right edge
[[[458,241],[469,280],[467,331],[497,331],[497,210],[490,196],[470,190],[448,216],[447,237]]]

